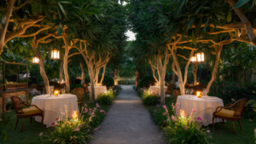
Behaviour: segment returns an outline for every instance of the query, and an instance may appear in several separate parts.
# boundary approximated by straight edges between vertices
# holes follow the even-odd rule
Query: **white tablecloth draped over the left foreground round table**
[[[61,111],[65,112],[67,106],[67,114],[72,116],[73,111],[79,112],[78,98],[76,95],[65,94],[58,97],[48,97],[49,95],[38,95],[32,98],[32,105],[44,111],[44,124],[52,124],[55,119],[61,116]],[[37,116],[36,121],[41,123],[41,118]],[[66,117],[63,117],[66,119]]]

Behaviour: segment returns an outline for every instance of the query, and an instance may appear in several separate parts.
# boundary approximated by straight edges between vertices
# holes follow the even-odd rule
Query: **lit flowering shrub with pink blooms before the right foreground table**
[[[163,112],[163,115],[167,117],[167,126],[163,129],[166,134],[166,139],[169,143],[189,143],[189,144],[198,144],[198,143],[209,143],[211,136],[210,130],[201,129],[201,118],[193,118],[192,112],[195,112],[195,109],[192,109],[192,112],[189,116],[181,113],[181,116],[174,114],[170,117],[167,107],[165,108],[166,112]],[[173,106],[172,106],[173,107]],[[178,104],[175,106],[178,107]],[[175,111],[175,107],[173,111]]]

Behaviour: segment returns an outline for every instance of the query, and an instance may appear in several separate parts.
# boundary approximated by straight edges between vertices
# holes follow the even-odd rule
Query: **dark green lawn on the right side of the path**
[[[166,98],[166,106],[168,107],[168,111],[170,115],[172,112],[172,98]],[[154,112],[155,106],[147,106],[149,112]],[[212,135],[212,143],[214,144],[253,144],[254,141],[254,128],[256,128],[256,124],[249,121],[248,118],[241,118],[241,127],[238,122],[235,122],[236,125],[236,135],[233,133],[233,124],[231,121],[227,121],[224,123],[216,123],[214,129],[212,128],[212,124],[208,125],[211,130],[214,130]]]

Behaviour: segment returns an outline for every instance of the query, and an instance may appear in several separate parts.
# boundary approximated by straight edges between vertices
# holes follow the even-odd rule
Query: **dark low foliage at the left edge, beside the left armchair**
[[[7,117],[6,114],[3,112],[0,116],[0,141],[3,138],[4,141],[7,141],[7,132],[6,128],[12,128],[12,124],[10,123],[10,117]]]

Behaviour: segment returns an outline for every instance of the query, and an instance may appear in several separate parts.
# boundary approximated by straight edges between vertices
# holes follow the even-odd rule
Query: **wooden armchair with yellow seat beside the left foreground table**
[[[14,106],[15,112],[16,112],[16,116],[17,116],[15,130],[17,128],[19,118],[23,118],[22,126],[21,126],[21,132],[22,132],[25,118],[30,118],[30,124],[32,124],[32,117],[35,117],[35,116],[41,116],[42,117],[42,120],[41,120],[41,128],[42,128],[42,125],[43,125],[43,122],[44,122],[44,112],[40,108],[38,108],[36,105],[27,105],[18,96],[12,96],[12,97],[10,97],[10,99],[13,103],[13,106]],[[30,107],[30,108],[23,109],[22,104],[27,106],[27,107]]]

